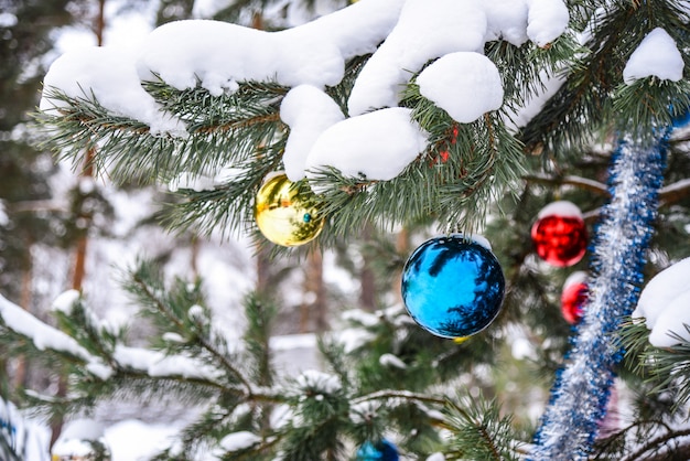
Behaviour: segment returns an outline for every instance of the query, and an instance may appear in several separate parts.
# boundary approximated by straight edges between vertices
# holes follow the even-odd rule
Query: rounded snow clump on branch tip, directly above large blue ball
[[[454,120],[468,124],[503,105],[503,85],[496,65],[474,52],[450,53],[417,78],[422,96]]]

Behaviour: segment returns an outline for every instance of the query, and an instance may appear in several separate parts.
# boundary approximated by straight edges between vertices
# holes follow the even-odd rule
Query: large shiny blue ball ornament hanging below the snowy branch
[[[506,281],[488,242],[461,234],[417,248],[402,270],[402,301],[420,326],[441,337],[475,334],[494,321]]]

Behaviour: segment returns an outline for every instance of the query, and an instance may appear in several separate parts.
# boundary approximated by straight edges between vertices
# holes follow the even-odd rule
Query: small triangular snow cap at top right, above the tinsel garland
[[[645,36],[633,52],[623,69],[623,81],[632,84],[646,77],[679,82],[684,63],[676,41],[661,28],[656,28]]]

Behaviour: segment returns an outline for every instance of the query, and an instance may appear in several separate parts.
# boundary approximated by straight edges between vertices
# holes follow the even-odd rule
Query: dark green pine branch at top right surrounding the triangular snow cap
[[[594,133],[612,126],[650,139],[655,127],[669,124],[671,105],[675,111],[688,107],[687,82],[643,79],[622,85],[630,54],[654,28],[669,31],[678,49],[687,49],[680,2],[613,1],[599,10],[597,3],[591,7],[583,11],[592,14],[589,21],[594,24],[587,52],[563,62],[570,69],[567,82],[522,130],[527,151],[558,154],[569,146],[589,143]]]

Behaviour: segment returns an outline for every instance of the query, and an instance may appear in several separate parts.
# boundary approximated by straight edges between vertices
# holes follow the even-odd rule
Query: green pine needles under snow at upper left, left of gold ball
[[[287,88],[272,83],[242,84],[220,96],[201,87],[177,90],[162,82],[144,87],[180,119],[186,137],[151,132],[141,121],[109,112],[93,94],[75,98],[47,88],[45,97],[61,107],[34,115],[50,137],[45,144],[75,160],[95,149],[97,172],[116,180],[170,181],[181,173],[213,174],[241,164],[284,131],[278,111]]]

